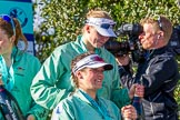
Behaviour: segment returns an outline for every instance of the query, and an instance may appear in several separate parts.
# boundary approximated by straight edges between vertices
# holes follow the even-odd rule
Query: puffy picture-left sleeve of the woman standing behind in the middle
[[[71,82],[67,82],[70,78],[70,71],[64,70],[67,68],[70,69],[70,67],[66,67],[67,64],[63,63],[63,61],[69,63],[70,60],[62,51],[63,49],[66,48],[57,48],[51,53],[51,56],[42,64],[38,74],[34,77],[30,88],[31,96],[34,101],[50,110],[53,109],[60,102],[60,100],[66,98],[72,88]],[[71,48],[67,49],[71,50]],[[63,77],[64,74],[67,76]],[[61,87],[58,87],[58,83]]]

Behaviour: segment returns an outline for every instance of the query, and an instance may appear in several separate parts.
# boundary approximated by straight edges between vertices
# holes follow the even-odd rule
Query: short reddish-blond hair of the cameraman
[[[162,29],[162,31],[164,32],[164,40],[168,43],[172,34],[172,23],[168,18],[163,16],[159,16],[159,18],[160,19],[158,21],[157,19],[154,19],[154,17],[147,17],[140,21],[140,24],[143,26],[144,23],[151,23],[154,28],[154,32]],[[162,26],[161,28],[159,22]]]

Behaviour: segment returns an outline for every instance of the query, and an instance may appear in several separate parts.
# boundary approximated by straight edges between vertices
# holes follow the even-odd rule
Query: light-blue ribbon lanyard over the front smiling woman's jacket
[[[111,120],[111,118],[108,114],[108,111],[104,108],[101,108],[96,100],[93,100],[88,93],[80,90],[80,92],[88,99],[88,101],[91,103],[93,108],[98,110],[100,114],[102,114],[104,120]],[[103,109],[103,110],[102,110]]]

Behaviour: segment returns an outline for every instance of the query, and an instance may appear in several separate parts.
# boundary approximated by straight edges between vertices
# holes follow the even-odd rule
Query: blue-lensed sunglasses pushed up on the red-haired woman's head
[[[16,27],[14,27],[13,19],[11,17],[9,17],[8,14],[0,14],[0,18],[11,24],[11,27],[13,29],[13,33],[16,34],[16,30],[14,30]]]

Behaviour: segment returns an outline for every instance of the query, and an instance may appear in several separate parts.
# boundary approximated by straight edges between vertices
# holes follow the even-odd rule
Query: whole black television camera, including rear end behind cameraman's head
[[[143,50],[138,39],[138,36],[142,30],[143,28],[139,23],[124,23],[116,33],[118,37],[128,34],[128,40],[117,41],[117,39],[110,38],[110,40],[104,44],[104,48],[116,57],[131,53],[133,62],[143,61],[147,51]],[[176,56],[180,54],[180,26],[173,28],[168,46],[172,49],[172,52],[174,52]]]

